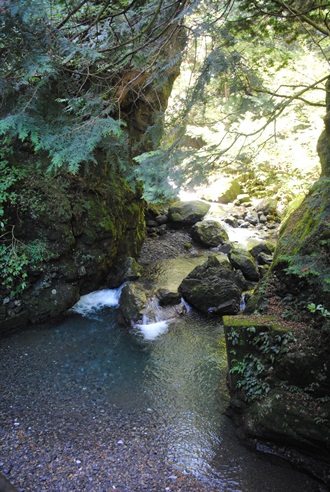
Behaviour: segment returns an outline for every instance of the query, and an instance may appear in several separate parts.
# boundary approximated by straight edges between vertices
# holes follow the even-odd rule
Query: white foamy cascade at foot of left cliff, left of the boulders
[[[79,301],[71,308],[71,311],[88,316],[105,307],[118,307],[122,286],[118,289],[96,290],[90,294],[81,296]]]

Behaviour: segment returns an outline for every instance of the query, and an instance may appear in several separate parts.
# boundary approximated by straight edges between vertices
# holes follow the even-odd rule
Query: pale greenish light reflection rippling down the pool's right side
[[[191,315],[172,323],[149,345],[143,386],[166,421],[168,460],[181,470],[205,475],[219,444],[226,393],[219,391],[225,367],[217,340],[221,328],[201,327]]]

